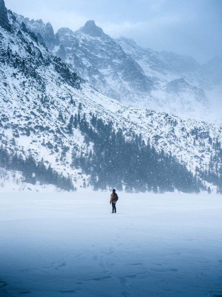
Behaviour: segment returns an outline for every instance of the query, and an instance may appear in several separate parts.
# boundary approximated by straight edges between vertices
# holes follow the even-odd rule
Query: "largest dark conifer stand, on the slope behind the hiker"
[[[102,119],[91,115],[86,121],[85,114],[80,112],[74,117],[75,127],[85,136],[86,146],[93,149],[72,150],[73,168],[81,167],[90,175],[90,183],[94,189],[115,187],[118,190],[126,185],[126,191],[132,192],[200,192],[202,183],[181,165],[175,157],[162,150],[157,152],[149,143],[145,143],[141,135],[133,134],[130,139],[117,131],[110,121],[105,124]],[[70,133],[73,125],[69,125]]]

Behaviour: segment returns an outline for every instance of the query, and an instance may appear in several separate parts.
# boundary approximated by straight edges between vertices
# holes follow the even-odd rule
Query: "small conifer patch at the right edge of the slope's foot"
[[[222,149],[221,142],[218,139],[215,141],[209,137],[208,142],[212,145],[215,154],[211,154],[210,163],[208,169],[200,170],[196,167],[196,175],[205,181],[215,185],[217,187],[217,193],[222,194]],[[208,148],[210,152],[210,147]],[[208,192],[210,190],[208,189]]]

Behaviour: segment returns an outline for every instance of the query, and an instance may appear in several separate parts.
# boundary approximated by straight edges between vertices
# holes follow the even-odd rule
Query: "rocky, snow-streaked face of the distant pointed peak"
[[[57,34],[65,48],[67,63],[102,94],[120,101],[127,98],[130,103],[135,94],[152,89],[152,80],[143,75],[139,64],[93,20],[76,32],[62,28]]]

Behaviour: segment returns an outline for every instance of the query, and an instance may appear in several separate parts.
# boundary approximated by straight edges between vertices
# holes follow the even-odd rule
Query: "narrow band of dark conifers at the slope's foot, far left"
[[[22,172],[25,182],[36,184],[53,184],[66,191],[75,190],[71,177],[65,177],[49,165],[45,166],[44,160],[36,161],[30,154],[25,159],[17,152],[10,154],[6,148],[0,147],[0,166],[7,170],[18,170]]]

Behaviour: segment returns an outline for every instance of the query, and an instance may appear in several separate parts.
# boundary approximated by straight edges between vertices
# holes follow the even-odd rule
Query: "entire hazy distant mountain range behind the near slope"
[[[16,17],[100,93],[139,108],[221,122],[221,58],[200,65],[189,56],[142,48],[132,39],[114,40],[93,20],[54,35],[49,23]]]

